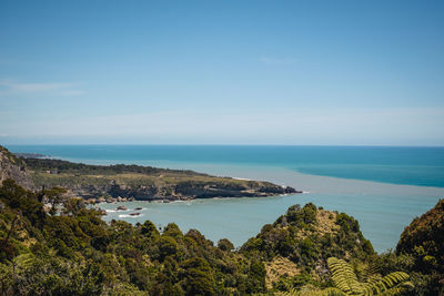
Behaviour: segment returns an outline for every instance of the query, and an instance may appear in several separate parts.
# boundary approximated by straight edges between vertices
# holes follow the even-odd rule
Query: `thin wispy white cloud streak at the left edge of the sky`
[[[81,95],[84,92],[77,90],[73,83],[51,82],[16,82],[12,80],[0,80],[0,96],[26,95],[26,94],[56,94],[56,95]]]

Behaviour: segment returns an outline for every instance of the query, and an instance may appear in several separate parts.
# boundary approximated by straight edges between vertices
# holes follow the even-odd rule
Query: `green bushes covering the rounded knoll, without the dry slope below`
[[[339,229],[322,231],[319,211],[312,203],[303,207],[291,206],[273,225],[264,225],[256,237],[250,238],[241,247],[241,252],[249,257],[260,256],[263,261],[272,261],[276,256],[286,257],[309,271],[315,266],[326,266],[326,259],[332,256],[345,257],[352,254],[365,261],[374,255],[371,243],[363,237],[355,220],[340,214],[335,222]]]

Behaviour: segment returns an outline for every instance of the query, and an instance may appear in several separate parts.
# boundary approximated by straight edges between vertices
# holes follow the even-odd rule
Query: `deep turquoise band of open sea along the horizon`
[[[307,174],[444,187],[444,147],[38,145],[8,146],[88,161],[191,162],[279,166]]]

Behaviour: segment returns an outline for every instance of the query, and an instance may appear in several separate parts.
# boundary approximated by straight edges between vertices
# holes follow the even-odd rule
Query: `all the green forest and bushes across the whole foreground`
[[[376,256],[355,220],[313,204],[290,207],[286,215],[233,251],[229,239],[214,246],[199,231],[183,234],[174,223],[162,233],[150,221],[135,226],[123,221],[107,224],[82,200],[62,197],[61,188],[41,194],[13,181],[0,186],[0,295],[259,295],[278,290],[394,295],[410,286],[407,279],[415,284],[416,295],[426,295],[437,290],[430,287],[441,285],[442,257],[428,241],[408,238],[417,233],[413,228],[404,237],[415,242],[412,248]],[[61,211],[47,214],[39,201],[44,196],[57,201]],[[325,223],[322,218],[330,224],[321,224]],[[268,289],[268,264],[276,257],[299,271],[281,275]],[[329,257],[351,257],[356,268]],[[360,267],[369,261],[379,268]],[[420,272],[420,266],[433,274]],[[391,273],[394,269],[400,272]]]

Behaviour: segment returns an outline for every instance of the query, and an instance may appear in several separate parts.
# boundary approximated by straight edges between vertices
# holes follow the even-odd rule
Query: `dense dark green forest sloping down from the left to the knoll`
[[[34,194],[13,182],[0,187],[0,294],[226,295],[263,292],[264,266],[219,247],[198,231],[147,221],[110,224],[79,198],[48,215]],[[62,193],[56,188],[52,191]],[[47,192],[48,193],[48,192]],[[52,193],[51,193],[52,194]],[[40,215],[39,215],[40,213]],[[36,225],[41,225],[36,228]]]

